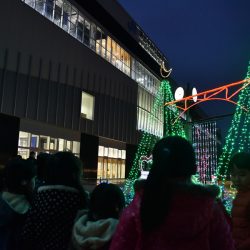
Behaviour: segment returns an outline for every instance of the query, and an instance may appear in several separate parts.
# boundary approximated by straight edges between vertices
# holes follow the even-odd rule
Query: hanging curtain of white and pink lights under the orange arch
[[[214,183],[217,167],[216,122],[193,124],[192,143],[196,153],[198,180],[201,183]]]

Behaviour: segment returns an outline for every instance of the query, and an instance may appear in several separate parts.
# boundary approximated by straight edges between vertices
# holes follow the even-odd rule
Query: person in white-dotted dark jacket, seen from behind
[[[68,249],[76,214],[87,204],[81,172],[81,161],[71,152],[50,156],[46,185],[38,188],[23,227],[23,249]]]

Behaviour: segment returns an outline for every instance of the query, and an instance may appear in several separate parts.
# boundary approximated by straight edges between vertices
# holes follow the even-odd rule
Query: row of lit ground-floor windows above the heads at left
[[[71,151],[79,157],[80,142],[19,131],[18,154],[27,159],[30,151],[34,151],[36,154],[40,152]]]

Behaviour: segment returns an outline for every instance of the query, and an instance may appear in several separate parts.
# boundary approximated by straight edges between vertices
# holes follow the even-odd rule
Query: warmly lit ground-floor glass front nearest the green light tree
[[[125,150],[99,146],[97,178],[124,179],[125,160],[126,160]]]

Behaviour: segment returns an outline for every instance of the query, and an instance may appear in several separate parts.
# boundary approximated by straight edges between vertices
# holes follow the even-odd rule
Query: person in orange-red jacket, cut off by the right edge
[[[235,154],[229,162],[231,180],[238,193],[232,206],[236,249],[250,249],[250,153]]]

